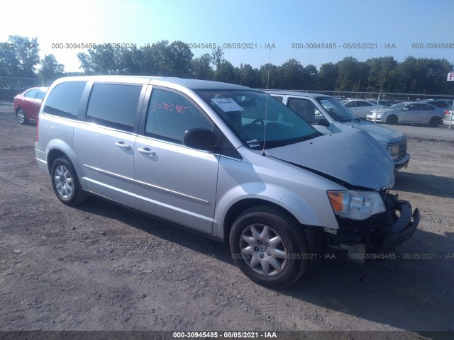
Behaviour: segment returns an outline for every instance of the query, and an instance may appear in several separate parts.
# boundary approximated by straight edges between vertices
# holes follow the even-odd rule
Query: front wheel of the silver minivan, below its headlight
[[[232,258],[255,283],[269,288],[292,285],[309,270],[309,246],[294,217],[260,205],[243,212],[230,232]]]

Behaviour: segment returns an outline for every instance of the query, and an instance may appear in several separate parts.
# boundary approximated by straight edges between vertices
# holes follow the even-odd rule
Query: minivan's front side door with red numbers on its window
[[[156,87],[141,124],[134,149],[140,210],[211,234],[219,156],[182,141],[186,130],[214,124],[188,96]]]

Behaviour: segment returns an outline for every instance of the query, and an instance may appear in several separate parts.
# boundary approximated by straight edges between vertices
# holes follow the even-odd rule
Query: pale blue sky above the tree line
[[[4,1],[2,13],[0,41],[36,37],[41,57],[52,53],[67,72],[80,71],[77,52],[84,50],[52,43],[211,43],[224,47],[235,66],[253,67],[290,58],[319,67],[350,55],[360,61],[414,56],[454,62],[453,0],[26,0]],[[253,48],[232,48],[238,46]]]

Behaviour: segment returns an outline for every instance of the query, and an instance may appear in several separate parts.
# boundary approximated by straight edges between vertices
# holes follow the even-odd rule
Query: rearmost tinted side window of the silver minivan
[[[77,118],[85,84],[87,81],[67,81],[55,86],[45,102],[44,113],[65,118]]]

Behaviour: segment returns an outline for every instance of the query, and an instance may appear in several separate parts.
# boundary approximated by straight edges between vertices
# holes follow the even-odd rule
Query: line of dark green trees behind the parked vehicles
[[[40,77],[56,79],[65,75],[64,66],[54,55],[39,57],[36,38],[10,35],[0,42],[0,77]],[[11,48],[7,48],[11,47]],[[304,66],[291,58],[282,65],[250,64],[234,67],[223,57],[221,47],[194,57],[182,41],[161,40],[140,48],[96,45],[79,52],[80,74],[131,74],[183,77],[226,81],[253,88],[304,89],[319,91],[392,92],[406,94],[453,94],[454,84],[446,81],[453,65],[445,59],[406,57],[397,62],[394,57],[370,58],[360,62],[345,57],[336,63]],[[40,67],[38,68],[38,64]]]

